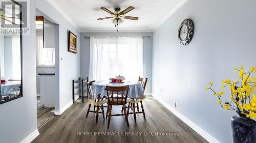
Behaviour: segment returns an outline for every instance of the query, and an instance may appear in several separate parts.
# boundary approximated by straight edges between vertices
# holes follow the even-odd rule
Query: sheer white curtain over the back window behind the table
[[[90,80],[104,80],[122,75],[138,80],[143,76],[142,37],[91,37]]]

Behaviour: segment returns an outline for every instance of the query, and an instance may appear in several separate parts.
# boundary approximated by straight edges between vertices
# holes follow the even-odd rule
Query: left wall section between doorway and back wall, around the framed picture
[[[56,110],[62,110],[72,101],[72,80],[80,77],[80,32],[74,27],[66,17],[63,17],[49,2],[35,1],[35,7],[52,23],[58,24],[55,31],[58,33],[59,42],[55,47],[55,77],[57,80],[56,87],[59,87]],[[77,54],[68,52],[68,31],[71,31],[77,36]],[[55,40],[56,40],[55,39]],[[62,61],[60,61],[62,57]]]

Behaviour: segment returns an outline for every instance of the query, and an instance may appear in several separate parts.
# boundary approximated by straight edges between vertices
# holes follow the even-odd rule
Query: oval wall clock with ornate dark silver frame
[[[182,45],[187,45],[194,35],[194,23],[191,19],[182,21],[179,27],[178,39]]]

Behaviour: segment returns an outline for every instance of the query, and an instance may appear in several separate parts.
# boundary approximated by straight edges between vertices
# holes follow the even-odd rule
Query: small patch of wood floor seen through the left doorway
[[[51,112],[52,110],[54,108],[40,108],[37,110],[37,128],[40,128],[55,116],[54,112]]]

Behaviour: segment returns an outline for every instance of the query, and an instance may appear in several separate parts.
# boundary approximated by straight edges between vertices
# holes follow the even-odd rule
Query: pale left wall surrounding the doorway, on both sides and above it
[[[23,36],[23,95],[24,97],[0,104],[1,142],[20,142],[37,130],[36,111],[36,49],[35,49],[35,10],[51,16],[59,25],[59,49],[56,52],[56,80],[59,92],[59,109],[72,100],[72,79],[80,76],[80,34],[46,0],[30,2],[30,35]],[[78,53],[68,52],[68,30],[78,37]],[[59,56],[63,61],[59,63]]]

